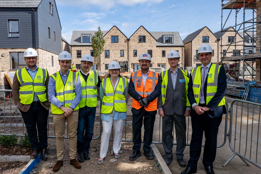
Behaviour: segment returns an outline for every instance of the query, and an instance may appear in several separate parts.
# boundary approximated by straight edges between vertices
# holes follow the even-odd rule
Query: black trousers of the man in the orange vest
[[[140,110],[132,108],[133,152],[140,151],[142,122],[144,124],[143,151],[149,152],[151,150],[150,145],[153,139],[153,128],[156,114],[157,110],[148,112],[144,107],[141,107]]]

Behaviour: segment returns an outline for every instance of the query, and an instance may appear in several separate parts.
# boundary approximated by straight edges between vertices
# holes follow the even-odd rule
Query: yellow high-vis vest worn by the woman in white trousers
[[[115,92],[110,78],[102,79],[101,86],[104,91],[101,113],[111,113],[113,108],[117,112],[127,112],[126,98],[124,96],[124,89],[126,89],[127,86],[125,77],[119,78]]]

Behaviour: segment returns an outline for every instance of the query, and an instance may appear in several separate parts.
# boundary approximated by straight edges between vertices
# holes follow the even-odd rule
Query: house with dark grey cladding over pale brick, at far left
[[[0,88],[10,89],[4,73],[26,66],[23,51],[35,48],[37,66],[49,74],[57,71],[61,52],[61,23],[55,0],[0,1]]]

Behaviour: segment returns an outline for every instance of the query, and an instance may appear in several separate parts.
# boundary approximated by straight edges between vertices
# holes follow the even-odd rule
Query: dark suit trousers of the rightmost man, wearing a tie
[[[197,163],[201,154],[203,131],[205,133],[205,146],[203,153],[203,165],[211,166],[216,158],[218,127],[222,121],[221,117],[211,118],[207,113],[195,114],[191,117],[192,136],[189,146],[190,159],[188,167],[197,170]]]

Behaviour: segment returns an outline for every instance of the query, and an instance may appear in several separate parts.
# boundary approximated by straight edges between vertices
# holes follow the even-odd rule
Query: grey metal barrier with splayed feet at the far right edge
[[[246,110],[245,107],[247,107]],[[258,147],[258,144],[261,143],[259,139],[260,110],[260,103],[239,99],[232,101],[230,106],[229,147],[233,154],[223,164],[223,167],[238,155],[248,166],[250,166],[249,162],[261,169],[261,149]]]

